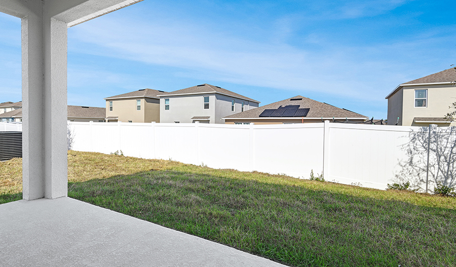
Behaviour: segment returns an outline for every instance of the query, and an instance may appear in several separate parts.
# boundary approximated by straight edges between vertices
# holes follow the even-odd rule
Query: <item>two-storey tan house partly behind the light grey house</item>
[[[150,123],[160,122],[160,97],[166,93],[141,89],[130,93],[104,98],[107,122]]]

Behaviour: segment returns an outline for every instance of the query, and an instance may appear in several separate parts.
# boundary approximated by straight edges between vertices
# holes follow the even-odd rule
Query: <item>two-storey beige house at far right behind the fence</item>
[[[456,125],[444,119],[456,101],[456,70],[446,69],[399,85],[388,99],[388,124],[407,126]]]

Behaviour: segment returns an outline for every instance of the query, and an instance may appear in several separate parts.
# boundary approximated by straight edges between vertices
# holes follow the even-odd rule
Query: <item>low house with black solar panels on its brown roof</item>
[[[318,123],[322,120],[363,123],[366,116],[313,99],[295,96],[262,107],[240,112],[223,119],[226,124]]]

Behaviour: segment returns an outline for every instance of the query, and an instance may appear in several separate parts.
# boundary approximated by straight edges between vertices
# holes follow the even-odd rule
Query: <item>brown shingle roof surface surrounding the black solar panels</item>
[[[280,106],[286,105],[299,105],[299,108],[309,108],[309,113],[307,114],[306,118],[367,118],[366,116],[355,113],[353,111],[338,108],[330,104],[318,102],[313,99],[298,95],[269,105],[264,105],[244,112],[236,113],[234,115],[226,116],[224,119],[260,118],[259,115],[264,111],[264,109],[277,109]]]

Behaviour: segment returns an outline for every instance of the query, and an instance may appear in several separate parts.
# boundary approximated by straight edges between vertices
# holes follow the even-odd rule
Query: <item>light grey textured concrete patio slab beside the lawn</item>
[[[63,197],[0,205],[2,266],[284,266]]]

